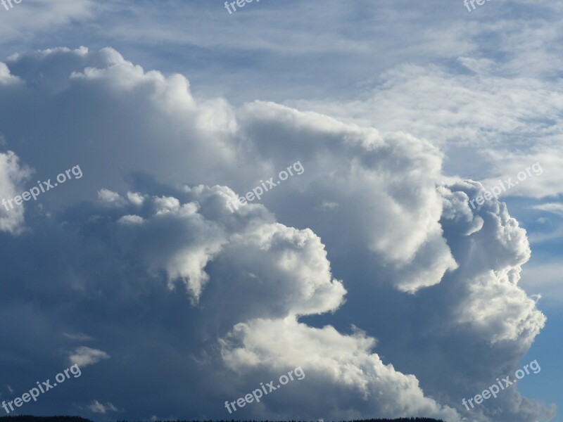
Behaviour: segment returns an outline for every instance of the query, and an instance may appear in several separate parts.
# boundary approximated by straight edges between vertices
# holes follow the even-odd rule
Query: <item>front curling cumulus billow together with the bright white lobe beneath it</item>
[[[119,228],[122,217],[117,215],[112,217],[113,222],[100,219],[96,224],[104,221],[115,227],[110,241],[118,245],[114,253],[137,256],[141,268],[148,273],[165,270],[169,283],[176,277],[182,279],[175,272],[177,266],[196,269],[195,274],[187,271],[184,285],[192,303],[203,313],[198,324],[208,326],[209,319],[221,321],[213,316],[213,309],[222,309],[222,324],[216,327],[224,340],[219,342],[221,354],[216,359],[242,376],[244,383],[253,381],[245,367],[258,366],[266,373],[272,369],[281,371],[299,361],[315,380],[315,387],[309,387],[315,389],[315,395],[334,395],[338,391],[346,392],[346,397],[360,394],[359,402],[341,399],[335,403],[331,411],[335,416],[377,411],[389,416],[416,413],[460,420],[454,409],[425,397],[415,376],[405,376],[391,365],[384,365],[372,352],[372,338],[359,331],[348,336],[332,327],[318,330],[299,324],[298,316],[334,312],[344,302],[346,290],[341,281],[331,276],[324,245],[309,229],[298,230],[274,222],[262,205],[249,206],[246,215],[233,215],[226,207],[229,196],[234,193],[220,186],[184,188],[184,200],[170,196],[147,198],[142,226]],[[118,203],[113,207],[127,212]],[[105,205],[101,210],[108,215],[113,212]],[[198,236],[202,230],[207,233]],[[168,257],[175,256],[174,253],[163,251],[161,243],[147,242],[155,238],[166,238],[167,247],[178,251],[172,269],[170,262],[160,260],[158,255]],[[206,245],[215,243],[219,247],[206,257],[208,262],[204,265],[201,255],[189,252],[205,250]],[[199,281],[202,274],[209,286],[199,285],[201,289],[196,292],[191,279],[194,276]],[[235,303],[228,300],[237,294],[240,297]],[[245,347],[236,348],[240,342]],[[327,350],[332,351],[330,356]],[[82,359],[73,362],[81,360],[84,364],[98,356],[100,351],[96,352],[81,347],[77,354]],[[257,368],[253,369],[254,374]],[[327,371],[332,373],[328,378]],[[331,383],[331,389],[322,389],[327,383]],[[291,397],[295,394],[291,392]],[[307,401],[303,398],[301,402],[306,405]],[[272,403],[272,409],[278,405]],[[267,414],[267,409],[260,410]],[[319,410],[307,412],[313,415]]]

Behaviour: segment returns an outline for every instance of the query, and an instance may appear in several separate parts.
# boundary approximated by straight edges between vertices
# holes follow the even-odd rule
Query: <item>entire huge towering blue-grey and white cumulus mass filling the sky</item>
[[[224,416],[224,399],[301,365],[303,387],[248,415],[457,421],[460,399],[519,364],[545,323],[517,285],[525,231],[498,200],[473,210],[483,186],[445,183],[429,141],[276,103],[196,101],[182,75],[146,72],[113,49],[7,64],[26,82],[0,85],[9,148],[38,173],[78,162],[87,175],[41,198],[26,214],[29,236],[0,244],[23,268],[0,281],[27,304],[9,310],[58,334],[11,341],[27,356],[62,333],[89,333],[111,350],[96,374],[114,380],[131,418],[155,406]],[[52,113],[61,98],[68,113]],[[29,109],[36,124],[22,139]],[[307,172],[229,211],[236,193],[296,160]],[[365,333],[346,333],[350,324]],[[109,357],[101,349],[70,358],[93,364]],[[153,397],[147,380],[167,394]],[[549,412],[513,390],[475,417]]]

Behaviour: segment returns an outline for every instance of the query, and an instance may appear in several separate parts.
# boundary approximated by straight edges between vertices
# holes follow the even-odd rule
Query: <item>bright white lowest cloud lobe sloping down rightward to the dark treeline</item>
[[[234,327],[222,340],[222,355],[239,373],[255,366],[279,373],[301,366],[315,393],[301,389],[293,394],[294,403],[301,407],[313,396],[331,397],[334,418],[371,412],[462,420],[454,409],[424,397],[415,376],[381,362],[371,352],[374,343],[365,333],[341,335],[331,326],[311,328],[292,317],[257,319]]]

